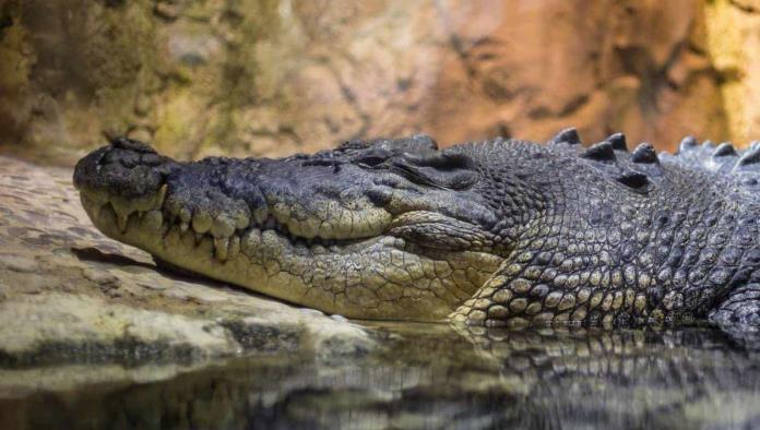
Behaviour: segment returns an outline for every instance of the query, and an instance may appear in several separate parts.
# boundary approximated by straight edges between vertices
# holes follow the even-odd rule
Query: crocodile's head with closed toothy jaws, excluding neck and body
[[[171,265],[330,313],[437,320],[542,212],[524,181],[537,152],[440,151],[416,135],[178,163],[118,139],[78,164],[74,184],[98,229]]]

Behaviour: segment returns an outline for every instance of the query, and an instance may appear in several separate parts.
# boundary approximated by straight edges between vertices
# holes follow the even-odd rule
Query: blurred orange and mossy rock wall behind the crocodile
[[[7,152],[188,159],[427,132],[760,136],[757,0],[4,0]]]

